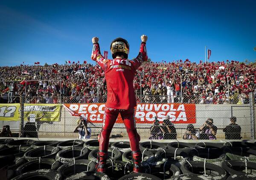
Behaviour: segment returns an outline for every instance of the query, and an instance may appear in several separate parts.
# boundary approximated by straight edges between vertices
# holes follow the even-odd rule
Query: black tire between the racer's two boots
[[[106,163],[106,172],[111,179],[119,179],[123,177],[125,174],[130,174],[133,172],[133,165],[124,161],[113,161],[113,169],[112,162]]]

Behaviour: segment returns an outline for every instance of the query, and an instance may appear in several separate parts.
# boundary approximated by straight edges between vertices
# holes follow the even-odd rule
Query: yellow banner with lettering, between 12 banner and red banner
[[[60,104],[24,104],[24,120],[60,121],[60,111]]]

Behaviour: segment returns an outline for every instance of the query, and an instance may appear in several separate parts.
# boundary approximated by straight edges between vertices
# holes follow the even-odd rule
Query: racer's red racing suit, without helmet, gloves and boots
[[[99,135],[99,151],[108,151],[109,136],[119,113],[130,139],[131,150],[139,151],[140,136],[137,133],[134,119],[134,107],[137,104],[133,80],[141,63],[148,60],[145,43],[141,43],[140,52],[133,60],[105,59],[100,53],[99,43],[94,43],[91,58],[105,72],[108,89],[102,130]]]

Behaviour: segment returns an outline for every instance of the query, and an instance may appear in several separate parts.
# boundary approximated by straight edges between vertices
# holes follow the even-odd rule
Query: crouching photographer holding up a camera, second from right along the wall
[[[199,129],[201,131],[201,140],[216,140],[217,127],[213,125],[213,119],[209,118],[205,121],[203,126]]]

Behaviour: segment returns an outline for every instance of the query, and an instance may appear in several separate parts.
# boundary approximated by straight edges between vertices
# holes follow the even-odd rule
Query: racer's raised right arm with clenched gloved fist
[[[148,54],[146,49],[146,41],[148,40],[148,37],[146,35],[142,35],[140,39],[141,39],[140,52],[135,59],[130,60],[135,70],[140,67],[141,63],[148,60]]]

